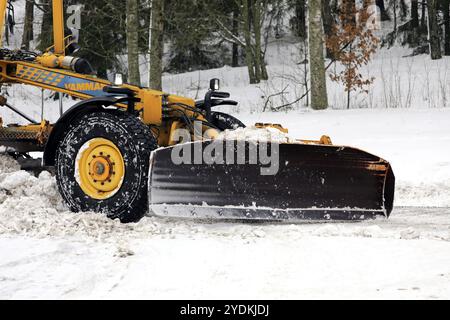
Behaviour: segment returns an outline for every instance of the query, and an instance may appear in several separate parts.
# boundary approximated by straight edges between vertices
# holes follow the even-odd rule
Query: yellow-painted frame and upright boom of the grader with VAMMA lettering
[[[0,0],[0,30],[5,26],[5,15],[7,0]],[[66,56],[68,38],[64,34],[64,5],[63,0],[53,0],[53,37],[54,46],[48,52],[36,58],[35,62],[0,60],[0,84],[26,84],[34,87],[51,90],[79,98],[89,100],[91,98],[105,96],[103,88],[113,85],[110,81],[99,79],[95,76],[80,74],[70,70],[70,66],[65,63],[73,57]],[[0,44],[3,43],[3,33],[0,36]],[[135,93],[135,108],[141,112],[143,123],[162,127],[158,130],[158,142],[161,146],[168,146],[172,141],[172,129],[179,128],[177,121],[163,123],[163,104],[172,105],[173,109],[177,104],[195,107],[195,101],[185,97],[168,95],[160,91],[148,88],[123,84],[123,88],[131,89]],[[164,101],[163,101],[164,100]],[[126,104],[118,104],[119,108],[126,108]],[[189,116],[198,117],[205,120],[201,114],[193,114],[183,108]],[[38,126],[23,127],[26,130],[40,130]],[[209,128],[205,128],[209,129]]]

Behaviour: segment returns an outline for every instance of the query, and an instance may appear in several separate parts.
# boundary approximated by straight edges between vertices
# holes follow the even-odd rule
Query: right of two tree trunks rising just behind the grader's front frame
[[[152,0],[149,87],[162,91],[164,54],[164,0]]]

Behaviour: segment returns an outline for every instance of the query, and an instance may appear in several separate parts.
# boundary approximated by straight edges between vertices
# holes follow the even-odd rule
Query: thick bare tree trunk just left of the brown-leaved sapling
[[[311,106],[314,110],[325,110],[328,108],[321,9],[321,0],[310,0],[309,60],[311,69]]]

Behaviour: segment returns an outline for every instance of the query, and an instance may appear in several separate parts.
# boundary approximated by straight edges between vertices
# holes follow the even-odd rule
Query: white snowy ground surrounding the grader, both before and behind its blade
[[[0,157],[0,298],[450,298],[450,110],[242,118],[391,160],[408,207],[356,224],[120,225],[68,213],[53,177]]]

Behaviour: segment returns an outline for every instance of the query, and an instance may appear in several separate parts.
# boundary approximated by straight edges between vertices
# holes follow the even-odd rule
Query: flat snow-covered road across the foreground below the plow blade
[[[62,214],[47,219],[66,220],[55,223],[64,238],[0,236],[0,298],[448,299],[448,215],[399,208],[389,221],[356,224],[123,226]]]

